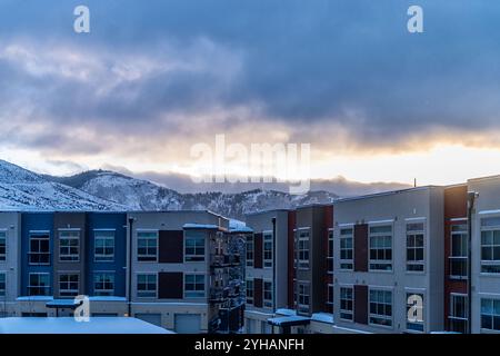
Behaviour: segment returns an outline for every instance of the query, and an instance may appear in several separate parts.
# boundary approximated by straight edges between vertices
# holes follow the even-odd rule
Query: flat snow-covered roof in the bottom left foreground
[[[128,317],[0,318],[0,334],[174,334],[162,327]]]

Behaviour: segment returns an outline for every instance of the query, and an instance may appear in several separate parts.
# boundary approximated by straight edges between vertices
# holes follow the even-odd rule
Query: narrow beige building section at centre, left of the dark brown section
[[[246,333],[271,334],[268,319],[293,300],[289,280],[293,274],[294,211],[250,214],[246,222],[253,230],[246,245]]]

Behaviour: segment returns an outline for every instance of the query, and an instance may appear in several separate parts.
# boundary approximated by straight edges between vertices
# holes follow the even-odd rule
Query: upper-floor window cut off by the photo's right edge
[[[500,226],[498,218],[481,219],[481,273],[500,274]]]

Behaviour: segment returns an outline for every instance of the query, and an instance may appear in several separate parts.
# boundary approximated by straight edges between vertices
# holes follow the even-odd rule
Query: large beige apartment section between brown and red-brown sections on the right
[[[443,330],[443,188],[341,199],[333,208],[336,328]]]

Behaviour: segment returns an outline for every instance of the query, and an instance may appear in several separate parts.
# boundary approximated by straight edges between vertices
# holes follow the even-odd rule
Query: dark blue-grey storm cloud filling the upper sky
[[[92,0],[86,2],[92,32],[83,36],[72,32],[77,4],[0,3],[4,43],[36,43],[34,53],[70,46],[82,58],[97,56],[101,66],[82,81],[57,71],[33,77],[1,59],[9,79],[0,83],[1,107],[26,99],[34,106],[30,121],[176,135],[182,132],[173,119],[179,113],[189,125],[213,107],[257,103],[259,119],[299,129],[340,123],[367,146],[443,127],[500,126],[496,1]],[[424,10],[422,34],[407,31],[410,4]],[[127,56],[204,67],[153,69],[99,93]],[[217,125],[220,131],[234,122]]]

